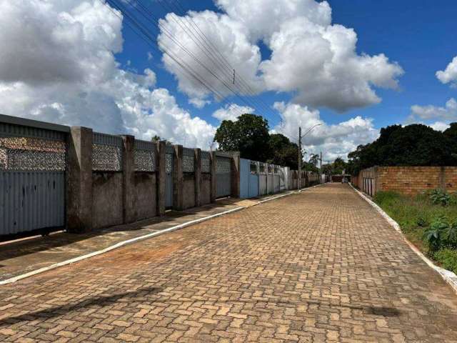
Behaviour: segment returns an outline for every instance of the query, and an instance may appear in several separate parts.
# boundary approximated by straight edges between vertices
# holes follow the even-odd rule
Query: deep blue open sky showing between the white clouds
[[[377,89],[383,101],[381,104],[353,109],[345,113],[336,113],[329,109],[320,109],[321,117],[329,124],[350,119],[353,116],[368,116],[374,119],[376,128],[391,124],[403,124],[411,113],[413,104],[436,104],[442,106],[451,96],[456,96],[456,89],[441,84],[435,73],[457,55],[456,41],[451,39],[451,32],[457,29],[457,3],[452,0],[440,1],[366,1],[366,0],[333,0],[328,1],[332,8],[333,24],[342,24],[355,29],[358,36],[357,52],[359,54],[386,54],[391,61],[397,61],[404,69],[398,91]],[[220,11],[213,1],[181,1],[186,10]],[[157,6],[158,13],[164,16],[164,9]],[[148,60],[147,53],[151,46],[140,39],[129,26],[124,26],[124,51],[117,58],[127,66],[142,70],[146,67],[157,74],[159,86],[169,89],[179,104],[192,114],[217,125],[218,120],[211,114],[219,104],[196,109],[188,104],[187,96],[177,91],[176,80],[164,69],[161,56],[154,52],[154,60]],[[263,59],[271,51],[260,44]],[[274,101],[288,101],[289,94],[267,92],[261,98],[267,104]],[[277,124],[279,116],[268,118],[271,126]]]

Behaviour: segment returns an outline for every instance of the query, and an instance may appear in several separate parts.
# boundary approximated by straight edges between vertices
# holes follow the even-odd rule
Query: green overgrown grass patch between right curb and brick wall
[[[446,218],[449,223],[457,223],[456,194],[451,196],[447,206],[433,204],[429,193],[407,197],[396,192],[378,192],[374,201],[398,222],[413,244],[441,264],[441,267],[457,273],[457,249],[438,247],[436,251],[431,251],[424,238],[431,224],[440,218]]]

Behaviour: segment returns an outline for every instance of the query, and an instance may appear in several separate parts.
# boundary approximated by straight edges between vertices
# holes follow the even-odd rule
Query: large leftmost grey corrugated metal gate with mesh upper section
[[[0,235],[64,227],[68,132],[0,116]]]

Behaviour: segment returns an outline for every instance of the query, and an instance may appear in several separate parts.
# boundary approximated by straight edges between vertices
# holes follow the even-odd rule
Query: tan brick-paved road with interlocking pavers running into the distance
[[[1,287],[0,340],[457,342],[457,296],[332,184]]]

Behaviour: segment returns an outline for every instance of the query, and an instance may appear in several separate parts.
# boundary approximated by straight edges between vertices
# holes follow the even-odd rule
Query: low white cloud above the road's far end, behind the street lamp
[[[303,136],[302,144],[308,154],[323,153],[323,159],[333,160],[336,157],[347,158],[347,154],[360,144],[370,143],[378,137],[379,131],[373,126],[373,119],[361,116],[341,121],[338,124],[326,124],[316,109],[298,104],[276,102],[275,108],[281,113],[281,123],[273,128],[274,132],[284,134],[292,141],[298,141],[298,127],[302,134],[316,126]]]

